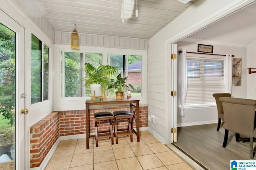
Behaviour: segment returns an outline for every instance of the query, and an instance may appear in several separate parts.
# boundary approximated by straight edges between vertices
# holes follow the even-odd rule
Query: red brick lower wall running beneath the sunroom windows
[[[90,110],[90,133],[95,132],[94,113],[101,111],[129,110],[130,107]],[[30,127],[30,168],[38,167],[60,136],[86,133],[86,110],[54,111]],[[140,107],[140,127],[148,127],[148,107]],[[100,122],[99,131],[108,129]],[[119,123],[125,128],[127,123]],[[136,127],[135,121],[133,126]],[[114,127],[114,126],[113,126]]]

